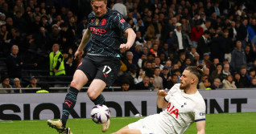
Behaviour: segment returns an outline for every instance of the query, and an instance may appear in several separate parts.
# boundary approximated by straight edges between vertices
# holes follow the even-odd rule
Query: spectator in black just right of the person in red
[[[203,59],[204,54],[208,53],[210,51],[209,50],[209,44],[208,44],[209,37],[210,37],[209,30],[205,30],[204,35],[202,35],[200,37],[200,39],[198,39],[196,50],[197,50],[198,54],[201,57],[200,59]]]

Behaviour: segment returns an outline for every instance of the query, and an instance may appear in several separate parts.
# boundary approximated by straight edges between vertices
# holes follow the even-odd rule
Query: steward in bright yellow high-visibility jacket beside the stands
[[[60,46],[57,43],[52,45],[52,52],[49,55],[50,58],[50,75],[65,75],[64,58],[59,51]]]

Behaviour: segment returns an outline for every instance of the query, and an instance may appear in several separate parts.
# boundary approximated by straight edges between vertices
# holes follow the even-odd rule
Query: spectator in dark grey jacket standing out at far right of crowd
[[[237,41],[236,47],[232,51],[231,66],[239,71],[242,66],[246,65],[246,53],[242,49],[241,41]]]

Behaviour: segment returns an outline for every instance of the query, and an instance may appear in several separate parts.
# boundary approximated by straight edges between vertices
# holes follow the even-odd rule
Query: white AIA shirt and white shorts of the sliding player
[[[193,122],[205,120],[205,103],[199,91],[192,95],[186,94],[184,90],[180,90],[180,83],[176,83],[164,99],[168,103],[166,110],[140,121],[150,130],[149,132],[180,134],[184,133]]]

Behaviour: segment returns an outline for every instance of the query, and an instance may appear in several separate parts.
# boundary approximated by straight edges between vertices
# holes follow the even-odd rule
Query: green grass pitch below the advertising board
[[[116,117],[111,118],[111,125],[106,134],[116,132],[118,129],[130,124],[140,117]],[[68,127],[73,134],[98,134],[101,125],[93,123],[91,119],[70,119]],[[0,121],[0,133],[2,134],[54,134],[55,129],[47,126],[46,120]],[[186,134],[196,133],[196,124],[192,124]],[[222,113],[207,114],[207,134],[255,134],[256,112],[250,113]]]

